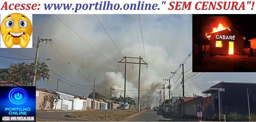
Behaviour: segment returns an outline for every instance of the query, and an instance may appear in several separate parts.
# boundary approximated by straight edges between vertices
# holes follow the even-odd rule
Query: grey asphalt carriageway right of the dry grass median
[[[143,111],[143,113],[128,120],[128,122],[184,122],[184,120],[161,112],[146,110]]]

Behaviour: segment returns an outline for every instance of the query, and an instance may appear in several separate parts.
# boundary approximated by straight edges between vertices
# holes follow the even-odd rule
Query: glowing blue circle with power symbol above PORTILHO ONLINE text
[[[9,93],[9,100],[16,105],[26,102],[28,99],[27,92],[22,88],[13,88]]]

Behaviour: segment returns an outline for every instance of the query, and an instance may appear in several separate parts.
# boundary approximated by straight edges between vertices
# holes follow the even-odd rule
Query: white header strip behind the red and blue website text
[[[113,7],[115,4],[120,4],[120,8],[124,7],[124,4],[136,4],[136,8],[138,7],[139,4],[139,0],[109,0],[111,4],[113,4]],[[252,3],[256,2],[256,1],[250,1],[250,3],[248,3],[249,1],[245,1],[245,0],[208,0],[208,1],[200,1],[200,0],[184,0],[184,1],[178,1],[178,2],[186,2],[186,4],[188,4],[188,2],[192,2],[191,3],[191,7],[190,10],[168,10],[168,8],[170,8],[170,2],[177,2],[178,0],[145,0],[145,1],[140,1],[140,2],[144,2],[144,7],[145,4],[151,4],[151,6],[153,6],[153,4],[157,4],[156,8],[159,8],[159,10],[95,10],[95,6],[92,6],[92,10],[83,10],[82,8],[80,10],[78,10],[77,12],[75,12],[75,8],[76,8],[76,4],[81,4],[83,6],[83,4],[96,4],[96,2],[100,3],[104,1],[100,1],[100,0],[90,0],[90,1],[81,1],[81,0],[40,0],[40,1],[34,1],[34,0],[12,0],[12,1],[4,1],[1,0],[0,1],[0,14],[2,13],[14,13],[14,12],[23,12],[23,13],[30,13],[30,14],[252,14],[256,11],[256,4],[254,5],[254,9],[252,10]],[[9,8],[9,5],[11,5],[11,9],[14,8],[13,4],[37,4],[39,5],[39,7],[36,7],[37,9],[39,8],[39,10],[2,10],[4,2],[7,2],[7,7]],[[108,1],[106,1],[108,2]],[[244,2],[244,8],[245,10],[230,10],[231,6],[233,3],[230,3],[230,9],[229,10],[196,10],[195,6],[197,2],[237,2],[237,8],[240,7],[241,3]],[[54,10],[52,7],[51,10],[45,10],[44,4],[62,4],[62,7],[60,8],[60,10]],[[70,10],[64,10],[64,5],[63,4],[72,4]],[[228,4],[228,3],[227,3]],[[236,3],[235,3],[236,4]],[[174,7],[176,4],[173,4]],[[221,3],[222,8],[224,6],[224,3]],[[31,6],[31,5],[30,5]],[[140,7],[142,5],[140,4]],[[202,8],[203,3],[199,3],[198,7]],[[205,6],[207,8],[209,8],[210,3],[206,3]],[[217,6],[217,5],[216,5]],[[228,5],[227,5],[228,6]],[[178,7],[180,7],[182,9],[182,7],[184,7],[183,4],[180,4]],[[99,5],[98,5],[99,8]],[[103,4],[102,4],[102,8],[103,8]],[[107,7],[106,7],[107,8]]]

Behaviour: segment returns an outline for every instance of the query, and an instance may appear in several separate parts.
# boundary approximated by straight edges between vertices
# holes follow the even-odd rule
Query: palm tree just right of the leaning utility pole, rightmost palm
[[[31,63],[32,66],[34,66],[35,63]],[[50,69],[48,69],[48,65],[46,65],[45,62],[38,62],[37,63],[37,71],[36,71],[36,81],[43,79],[47,79],[47,81],[50,78],[49,72]],[[33,72],[32,72],[33,73]]]

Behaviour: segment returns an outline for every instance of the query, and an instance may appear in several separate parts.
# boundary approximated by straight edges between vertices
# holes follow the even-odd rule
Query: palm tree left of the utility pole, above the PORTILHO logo
[[[22,85],[28,85],[29,74],[31,70],[28,68],[26,63],[11,64],[8,70],[8,73],[11,77],[11,80],[18,82]]]

